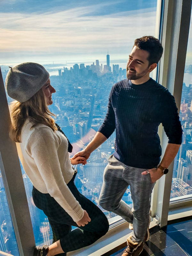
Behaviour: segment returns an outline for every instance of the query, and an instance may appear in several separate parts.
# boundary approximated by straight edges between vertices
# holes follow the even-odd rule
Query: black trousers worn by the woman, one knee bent
[[[104,213],[89,199],[81,195],[74,184],[74,177],[67,184],[81,207],[87,211],[91,221],[84,227],[71,231],[71,226],[78,227],[76,222],[49,194],[43,194],[33,187],[32,196],[36,207],[43,210],[52,228],[53,241],[60,240],[64,252],[70,252],[90,245],[104,236],[109,228]],[[58,256],[66,254],[61,253]]]

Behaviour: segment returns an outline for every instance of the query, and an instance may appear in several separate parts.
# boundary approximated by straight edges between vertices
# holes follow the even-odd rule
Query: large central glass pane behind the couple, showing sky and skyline
[[[1,69],[38,62],[48,70],[56,122],[73,144],[75,154],[94,137],[107,111],[114,83],[126,78],[126,63],[134,40],[155,35],[154,0],[3,2]],[[11,101],[7,97],[8,102]],[[115,134],[96,149],[85,166],[77,166],[78,190],[98,205],[103,171],[114,151]],[[22,168],[22,167],[21,167]],[[52,239],[49,222],[34,206],[32,184],[22,168],[36,244]],[[123,200],[132,204],[130,189]],[[112,212],[103,212],[108,218]],[[50,241],[51,242],[51,241]]]

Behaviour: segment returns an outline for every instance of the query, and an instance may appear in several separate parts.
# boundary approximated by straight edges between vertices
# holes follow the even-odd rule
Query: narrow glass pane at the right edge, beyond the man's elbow
[[[180,105],[183,141],[175,157],[171,201],[192,196],[192,19]]]

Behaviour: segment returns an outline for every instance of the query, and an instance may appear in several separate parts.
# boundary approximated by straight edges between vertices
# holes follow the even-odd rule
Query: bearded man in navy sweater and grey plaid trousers
[[[155,181],[168,172],[182,142],[182,129],[174,97],[149,77],[163,47],[153,36],[135,40],[126,67],[127,79],[110,92],[103,124],[87,147],[76,156],[86,159],[116,129],[115,152],[108,159],[99,204],[131,223],[132,234],[122,256],[139,255],[149,239],[150,196]],[[161,146],[157,134],[162,123],[169,138],[159,164]],[[121,200],[130,185],[133,208]]]

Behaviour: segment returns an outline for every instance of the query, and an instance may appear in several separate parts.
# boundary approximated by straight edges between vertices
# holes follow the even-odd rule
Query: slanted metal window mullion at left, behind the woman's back
[[[20,256],[32,256],[35,239],[15,142],[9,138],[11,119],[0,68],[0,168]]]

